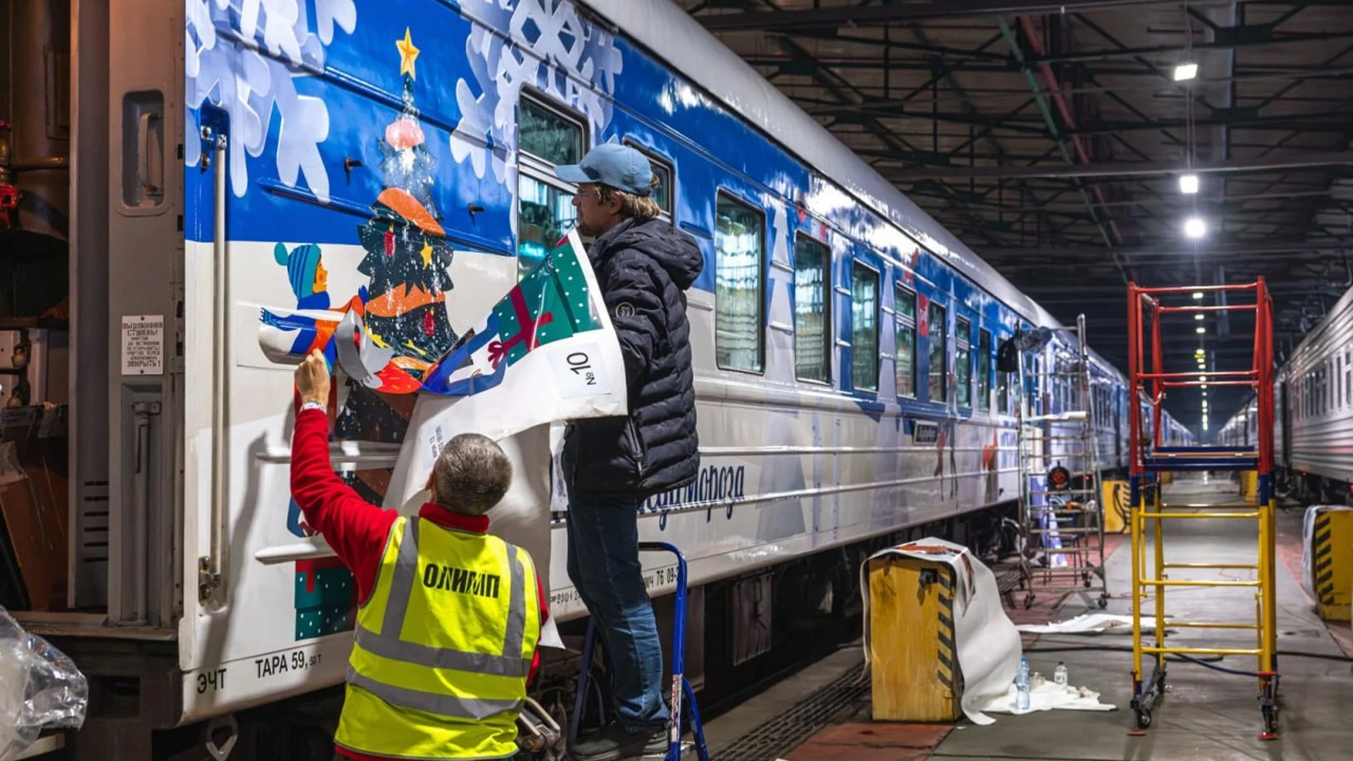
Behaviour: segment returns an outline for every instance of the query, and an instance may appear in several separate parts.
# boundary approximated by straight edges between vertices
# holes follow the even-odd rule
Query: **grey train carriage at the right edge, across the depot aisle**
[[[1273,466],[1280,489],[1304,502],[1345,504],[1353,483],[1353,288],[1292,349],[1275,374]],[[1218,440],[1253,445],[1254,397]]]

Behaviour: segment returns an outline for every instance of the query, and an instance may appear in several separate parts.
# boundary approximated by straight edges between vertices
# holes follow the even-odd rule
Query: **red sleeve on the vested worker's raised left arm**
[[[376,584],[386,538],[399,513],[363,500],[334,474],[329,462],[329,416],[307,409],[296,416],[291,437],[291,497],[306,523],[325,538],[357,581],[365,603]]]

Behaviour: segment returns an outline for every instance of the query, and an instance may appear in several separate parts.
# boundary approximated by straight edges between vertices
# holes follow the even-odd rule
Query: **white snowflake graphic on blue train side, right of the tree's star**
[[[457,164],[468,160],[476,177],[492,169],[498,183],[515,184],[505,146],[517,144],[522,85],[580,111],[594,134],[605,131],[612,118],[607,96],[624,66],[610,32],[563,0],[465,0],[461,8],[478,22],[465,41],[465,57],[479,95],[464,79],[456,83],[461,118],[451,134],[451,154]],[[492,30],[507,30],[510,38]]]

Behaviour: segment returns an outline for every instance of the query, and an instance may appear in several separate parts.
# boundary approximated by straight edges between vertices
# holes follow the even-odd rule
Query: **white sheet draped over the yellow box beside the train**
[[[1015,682],[1023,653],[1019,631],[1005,616],[996,575],[962,544],[919,539],[869,557],[859,569],[865,596],[865,665],[869,668],[869,561],[889,555],[948,563],[954,569],[954,643],[963,674],[963,714],[977,724],[996,719],[982,714]]]

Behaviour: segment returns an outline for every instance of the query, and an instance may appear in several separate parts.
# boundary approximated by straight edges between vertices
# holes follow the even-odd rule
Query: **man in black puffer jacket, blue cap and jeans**
[[[668,714],[663,654],[639,563],[639,505],[700,470],[685,290],[704,257],[658,219],[656,180],[643,153],[606,144],[559,167],[578,183],[578,230],[625,357],[629,416],[570,424],[568,578],[606,643],[617,720],[571,749],[576,761],[662,758]]]

